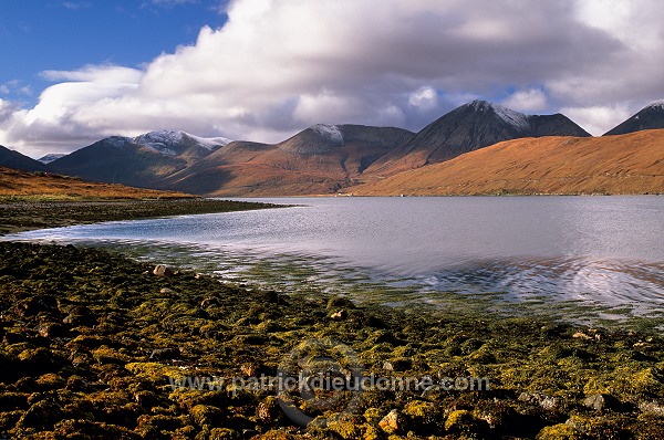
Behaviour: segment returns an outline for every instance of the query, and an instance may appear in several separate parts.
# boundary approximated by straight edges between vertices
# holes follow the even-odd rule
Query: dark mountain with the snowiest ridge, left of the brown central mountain
[[[50,164],[56,172],[85,180],[163,188],[163,179],[185,169],[228,143],[185,132],[112,136]]]

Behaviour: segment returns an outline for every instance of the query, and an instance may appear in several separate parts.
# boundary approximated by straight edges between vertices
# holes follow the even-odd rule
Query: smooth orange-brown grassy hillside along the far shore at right
[[[360,196],[664,193],[664,129],[507,140],[347,188]]]

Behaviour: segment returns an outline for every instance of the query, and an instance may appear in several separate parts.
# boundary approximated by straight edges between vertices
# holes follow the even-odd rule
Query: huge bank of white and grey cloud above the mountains
[[[664,9],[616,1],[618,27],[575,0],[236,0],[221,29],[141,70],[45,72],[58,84],[0,122],[0,143],[30,153],[166,127],[267,142],[314,123],[419,129],[459,104],[449,96],[506,90],[519,109],[571,108],[602,132],[616,117],[598,108],[664,95]]]

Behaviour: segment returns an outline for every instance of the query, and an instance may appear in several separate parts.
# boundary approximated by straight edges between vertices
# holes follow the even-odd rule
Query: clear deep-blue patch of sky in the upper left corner
[[[139,66],[225,21],[219,1],[1,0],[0,97],[33,104],[50,84],[43,71]]]

